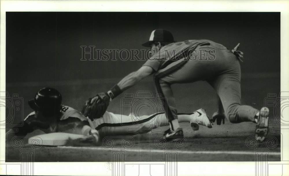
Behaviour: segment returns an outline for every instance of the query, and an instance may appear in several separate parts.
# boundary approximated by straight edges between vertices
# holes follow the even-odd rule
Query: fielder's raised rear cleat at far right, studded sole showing
[[[269,109],[267,107],[261,108],[255,130],[255,137],[257,141],[263,142],[265,136],[268,134],[268,119]]]

